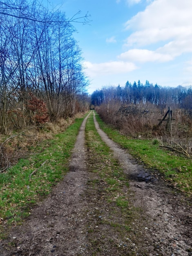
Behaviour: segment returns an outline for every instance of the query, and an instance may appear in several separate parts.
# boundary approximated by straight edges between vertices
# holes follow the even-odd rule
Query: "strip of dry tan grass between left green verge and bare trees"
[[[84,114],[78,113],[74,117],[59,119],[57,123],[46,123],[42,127],[26,130],[22,135],[13,138],[11,136],[19,134],[21,130],[12,131],[7,136],[0,135],[0,144],[10,138],[0,147],[0,172],[7,171],[7,168],[16,164],[18,159],[27,157],[40,141],[53,139],[54,135],[64,132],[67,127],[74,123],[76,118],[80,118]]]

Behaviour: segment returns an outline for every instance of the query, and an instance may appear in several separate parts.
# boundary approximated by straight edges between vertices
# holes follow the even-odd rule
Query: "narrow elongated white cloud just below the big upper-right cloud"
[[[123,61],[132,62],[166,62],[171,61],[173,57],[170,54],[161,54],[147,49],[131,49],[118,56]]]

